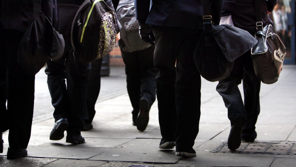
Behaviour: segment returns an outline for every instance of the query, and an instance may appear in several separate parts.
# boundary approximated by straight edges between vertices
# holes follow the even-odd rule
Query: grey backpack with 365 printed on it
[[[124,51],[133,52],[151,46],[140,38],[134,0],[119,0],[116,15],[121,24],[119,45]]]

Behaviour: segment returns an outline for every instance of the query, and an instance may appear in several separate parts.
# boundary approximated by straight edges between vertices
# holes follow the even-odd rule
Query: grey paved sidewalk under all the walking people
[[[124,73],[124,67],[117,70],[123,70]],[[116,78],[110,75],[111,78]],[[37,81],[38,76],[36,76]],[[110,78],[104,78],[103,83],[107,83],[108,80]],[[125,80],[117,81],[125,87]],[[28,157],[6,159],[8,132],[5,132],[4,152],[0,154],[1,167],[127,167],[130,165],[295,167],[296,164],[296,65],[284,65],[275,84],[261,84],[261,113],[256,126],[258,137],[253,143],[243,142],[237,151],[230,151],[227,148],[230,121],[223,100],[215,90],[217,82],[202,79],[200,132],[194,145],[197,156],[193,158],[176,156],[175,149],[158,148],[161,135],[157,101],[151,107],[150,121],[146,130],[138,131],[132,125],[132,106],[128,94],[123,89],[97,102],[97,113],[93,120],[94,129],[82,132],[86,143],[72,145],[65,142],[66,137],[60,141],[50,141],[49,133],[54,125],[53,108],[50,106],[51,99],[47,94],[46,80],[43,82],[44,85],[35,93],[35,111],[44,110],[44,113],[39,116],[34,115],[27,149]],[[38,109],[36,105],[39,106]]]

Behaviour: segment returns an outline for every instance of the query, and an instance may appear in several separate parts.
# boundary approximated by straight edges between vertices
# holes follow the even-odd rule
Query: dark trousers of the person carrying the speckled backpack
[[[90,63],[79,62],[76,69],[73,52],[69,47],[61,59],[47,62],[45,73],[52,106],[55,107],[53,117],[55,121],[68,119],[67,134],[70,135],[79,135],[84,126],[90,68]]]

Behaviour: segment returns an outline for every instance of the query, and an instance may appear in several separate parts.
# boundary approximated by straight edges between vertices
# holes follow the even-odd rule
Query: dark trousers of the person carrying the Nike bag
[[[244,101],[238,89],[241,81],[243,81]],[[255,75],[251,51],[249,50],[234,61],[229,77],[219,81],[216,88],[228,109],[228,118],[231,125],[238,117],[247,119],[243,127],[243,137],[247,135],[257,137],[255,124],[260,113],[260,85],[261,81]]]

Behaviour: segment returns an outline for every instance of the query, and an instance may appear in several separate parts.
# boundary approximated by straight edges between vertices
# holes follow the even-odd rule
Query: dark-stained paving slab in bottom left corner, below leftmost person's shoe
[[[40,167],[56,160],[57,160],[56,158],[31,158],[31,157],[8,160],[6,159],[6,156],[0,156],[0,166],[1,167]]]

